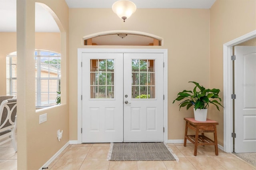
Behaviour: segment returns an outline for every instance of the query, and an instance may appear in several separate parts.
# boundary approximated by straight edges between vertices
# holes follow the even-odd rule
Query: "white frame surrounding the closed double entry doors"
[[[168,142],[168,50],[167,49],[77,49],[77,143],[82,143],[82,53],[163,53],[164,55],[164,142]]]

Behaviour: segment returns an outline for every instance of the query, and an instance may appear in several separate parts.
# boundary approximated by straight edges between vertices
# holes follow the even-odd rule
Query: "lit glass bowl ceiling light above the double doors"
[[[112,10],[125,22],[136,11],[136,5],[129,0],[118,0],[112,5]]]

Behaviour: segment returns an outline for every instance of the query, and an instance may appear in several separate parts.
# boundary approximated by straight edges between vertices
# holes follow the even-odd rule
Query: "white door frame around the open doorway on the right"
[[[233,55],[234,45],[246,42],[252,38],[256,38],[256,30],[223,44],[223,149],[228,153],[233,152],[233,138],[231,137],[233,132],[233,99],[231,99],[231,94],[233,93],[233,65],[231,55]]]

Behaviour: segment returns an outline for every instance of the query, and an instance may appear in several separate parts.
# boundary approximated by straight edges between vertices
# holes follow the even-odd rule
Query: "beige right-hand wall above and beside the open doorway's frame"
[[[210,87],[222,91],[223,44],[256,30],[256,0],[216,0],[210,9]],[[218,144],[223,146],[223,109],[210,111],[219,122]]]

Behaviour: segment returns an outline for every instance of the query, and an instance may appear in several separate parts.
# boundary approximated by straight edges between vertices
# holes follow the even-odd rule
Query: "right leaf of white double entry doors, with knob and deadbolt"
[[[124,142],[164,141],[163,54],[124,53]]]

